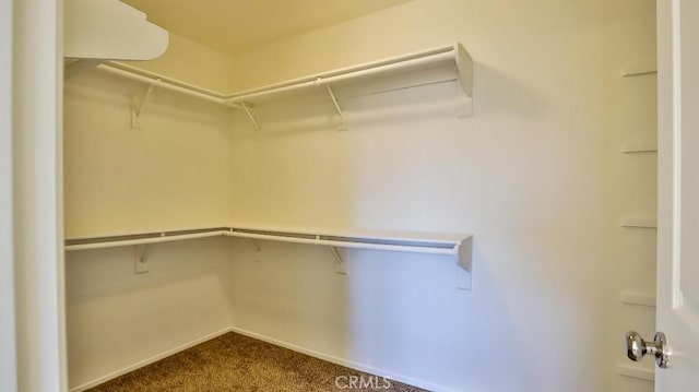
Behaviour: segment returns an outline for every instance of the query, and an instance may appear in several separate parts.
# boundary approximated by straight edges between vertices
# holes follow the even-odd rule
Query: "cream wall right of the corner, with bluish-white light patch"
[[[455,40],[476,67],[465,120],[433,106],[448,85],[345,99],[346,132],[322,126],[330,103],[257,107],[230,202],[234,221],[473,233],[473,290],[446,260],[354,251],[343,277],[327,249],[265,243],[256,262],[241,242],[234,325],[438,390],[651,390],[616,369],[652,313],[616,314],[621,290],[652,293],[621,268],[652,281],[654,234],[618,227],[653,214],[652,161],[619,153],[655,123],[635,116],[652,84],[619,78],[653,62],[652,20],[651,1],[416,0],[235,58],[234,90]]]

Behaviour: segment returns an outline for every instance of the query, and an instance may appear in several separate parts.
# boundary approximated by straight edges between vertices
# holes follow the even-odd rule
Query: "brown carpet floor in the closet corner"
[[[230,332],[97,385],[90,391],[418,392],[424,390]]]

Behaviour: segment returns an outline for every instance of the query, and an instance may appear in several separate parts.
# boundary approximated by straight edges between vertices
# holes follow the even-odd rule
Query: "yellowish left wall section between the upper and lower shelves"
[[[66,83],[68,238],[220,225],[229,211],[229,109],[98,70]]]

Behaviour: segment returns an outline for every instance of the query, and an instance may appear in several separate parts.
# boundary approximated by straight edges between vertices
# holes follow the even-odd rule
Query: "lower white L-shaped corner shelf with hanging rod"
[[[135,246],[205,237],[237,237],[252,240],[308,243],[333,248],[356,248],[394,252],[445,254],[471,271],[472,236],[414,231],[369,231],[341,229],[289,229],[261,226],[226,226],[187,230],[151,231],[105,237],[71,238],[67,251]]]

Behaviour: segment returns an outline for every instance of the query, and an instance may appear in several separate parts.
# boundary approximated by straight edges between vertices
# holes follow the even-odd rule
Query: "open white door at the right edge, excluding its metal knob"
[[[699,1],[657,0],[656,392],[699,391]],[[648,337],[648,336],[645,336]]]

